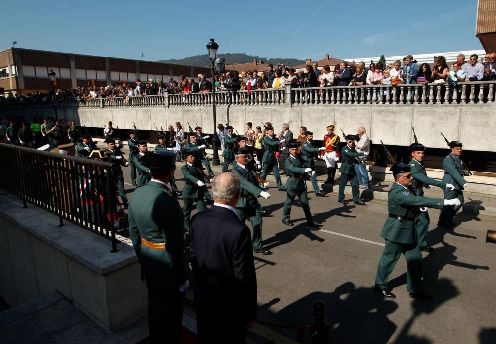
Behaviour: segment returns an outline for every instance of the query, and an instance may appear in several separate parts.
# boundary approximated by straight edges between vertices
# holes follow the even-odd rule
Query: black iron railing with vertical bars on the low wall
[[[0,143],[0,189],[112,241],[119,203],[112,164]]]

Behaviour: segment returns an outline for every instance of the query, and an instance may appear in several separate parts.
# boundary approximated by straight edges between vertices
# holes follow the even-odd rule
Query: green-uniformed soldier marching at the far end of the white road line
[[[307,226],[311,228],[318,229],[318,225],[313,222],[310,213],[309,199],[307,196],[307,185],[305,184],[306,173],[311,173],[311,167],[305,167],[305,162],[303,158],[296,154],[298,149],[298,143],[293,142],[289,144],[289,156],[286,159],[284,165],[286,171],[289,173],[289,178],[286,181],[286,201],[284,202],[282,223],[287,226],[293,226],[289,222],[289,216],[291,214],[291,206],[295,197],[298,196],[300,203],[302,204],[303,212],[305,213],[305,218],[307,219]]]

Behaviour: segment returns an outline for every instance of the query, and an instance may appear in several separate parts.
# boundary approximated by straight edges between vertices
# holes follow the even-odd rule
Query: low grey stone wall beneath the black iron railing
[[[132,246],[111,242],[0,193],[0,294],[12,307],[58,290],[115,332],[146,315],[146,285]]]

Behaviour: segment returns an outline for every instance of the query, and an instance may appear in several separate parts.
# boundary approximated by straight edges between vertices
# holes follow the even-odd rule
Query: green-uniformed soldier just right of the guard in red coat
[[[338,192],[338,202],[343,204],[348,204],[344,200],[344,188],[348,181],[351,185],[353,203],[358,205],[365,205],[364,202],[360,200],[360,191],[358,190],[358,179],[355,173],[355,163],[358,157],[366,157],[367,153],[358,153],[355,150],[355,135],[346,135],[347,145],[341,149],[341,167],[339,172],[341,172],[341,177],[339,178],[339,192]]]

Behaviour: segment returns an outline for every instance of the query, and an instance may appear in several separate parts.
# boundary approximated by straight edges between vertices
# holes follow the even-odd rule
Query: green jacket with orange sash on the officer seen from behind
[[[166,186],[151,181],[134,191],[129,203],[129,236],[148,283],[172,287],[186,281],[183,212]],[[141,238],[165,242],[165,249],[144,246]]]

